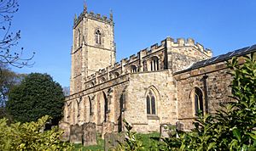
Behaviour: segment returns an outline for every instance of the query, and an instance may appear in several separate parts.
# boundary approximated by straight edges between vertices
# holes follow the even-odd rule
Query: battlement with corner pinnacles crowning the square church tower
[[[110,12],[109,18],[105,15],[101,15],[101,14],[95,14],[94,12],[90,11],[90,13],[87,12],[87,7],[84,4],[84,11],[79,14],[79,17],[77,17],[77,15],[75,14],[74,17],[74,21],[73,21],[73,26],[77,26],[79,25],[79,22],[81,20],[83,20],[84,18],[89,18],[91,20],[98,20],[98,21],[102,21],[108,24],[113,24],[113,14],[112,12]]]

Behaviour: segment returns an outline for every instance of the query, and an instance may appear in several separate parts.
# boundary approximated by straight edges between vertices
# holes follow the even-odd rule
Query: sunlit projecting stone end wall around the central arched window
[[[147,92],[156,97],[156,114],[147,114]],[[175,124],[177,120],[177,96],[174,79],[168,70],[135,73],[127,87],[124,118],[135,131],[159,131],[161,123]]]

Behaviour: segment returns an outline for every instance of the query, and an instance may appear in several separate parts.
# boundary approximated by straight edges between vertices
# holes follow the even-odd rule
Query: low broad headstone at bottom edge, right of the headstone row
[[[125,143],[125,133],[111,132],[104,136],[104,150],[115,150],[119,143]]]

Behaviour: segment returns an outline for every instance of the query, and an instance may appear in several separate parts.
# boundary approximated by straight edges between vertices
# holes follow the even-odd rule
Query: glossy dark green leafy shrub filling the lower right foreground
[[[227,63],[233,76],[234,101],[217,110],[215,115],[200,113],[190,132],[177,131],[151,150],[255,150],[256,149],[256,55],[231,59]],[[127,125],[127,123],[126,123]],[[128,128],[127,128],[128,127]],[[142,150],[140,140],[126,126],[127,138],[123,150]],[[178,136],[178,137],[176,137]],[[137,146],[133,148],[132,146]]]

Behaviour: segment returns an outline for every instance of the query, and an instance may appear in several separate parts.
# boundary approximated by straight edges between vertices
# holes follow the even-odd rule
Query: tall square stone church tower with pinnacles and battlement
[[[84,11],[73,23],[73,47],[70,94],[84,90],[87,76],[115,63],[113,14],[109,18]]]

